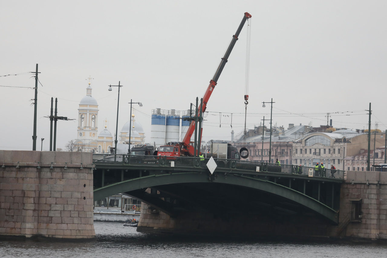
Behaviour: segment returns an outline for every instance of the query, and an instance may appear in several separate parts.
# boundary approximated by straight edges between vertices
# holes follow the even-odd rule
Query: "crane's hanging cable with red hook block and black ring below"
[[[243,148],[240,149],[239,153],[242,158],[248,157],[248,150],[246,148],[246,121],[247,121],[247,104],[248,104],[248,83],[250,76],[250,42],[251,42],[251,19],[248,19],[247,24],[247,39],[246,39],[246,72],[245,72],[245,131],[243,134]],[[243,153],[247,153],[242,155]]]

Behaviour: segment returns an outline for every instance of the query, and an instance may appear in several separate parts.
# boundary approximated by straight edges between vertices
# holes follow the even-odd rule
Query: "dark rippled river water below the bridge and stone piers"
[[[156,236],[123,227],[121,222],[94,222],[93,242],[0,241],[0,257],[34,258],[185,258],[185,257],[275,257],[275,258],[380,258],[387,245],[322,242],[272,242],[218,237]]]

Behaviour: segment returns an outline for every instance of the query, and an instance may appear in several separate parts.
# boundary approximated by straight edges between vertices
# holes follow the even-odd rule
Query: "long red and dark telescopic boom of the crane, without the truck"
[[[205,111],[205,108],[207,106],[207,102],[211,96],[212,91],[214,91],[214,88],[217,84],[217,80],[219,79],[219,76],[221,75],[221,73],[223,71],[224,65],[226,65],[227,59],[228,59],[231,51],[234,48],[235,42],[238,40],[238,36],[239,36],[241,30],[242,30],[243,26],[245,25],[245,22],[249,18],[251,18],[251,15],[248,12],[245,12],[245,14],[243,15],[243,19],[242,19],[241,23],[239,24],[238,29],[236,30],[235,35],[233,35],[233,38],[232,38],[230,44],[228,45],[226,53],[224,53],[224,56],[222,57],[222,60],[220,61],[219,66],[216,69],[214,77],[212,77],[210,84],[204,93],[203,106],[200,107],[200,105],[199,105],[199,107],[197,107],[197,110],[198,110],[197,114],[200,114],[201,108],[202,108],[202,112]],[[185,154],[190,155],[190,156],[194,156],[194,147],[189,145],[190,140],[191,140],[191,136],[194,133],[194,130],[195,130],[195,121],[191,121],[190,126],[188,127],[188,130],[187,130],[187,133],[185,134],[185,137],[184,137],[183,142],[182,142],[183,146],[185,146],[185,148],[186,148],[186,150],[183,150],[183,152],[187,151],[188,153],[185,153]],[[201,129],[199,129],[199,130],[201,133]]]

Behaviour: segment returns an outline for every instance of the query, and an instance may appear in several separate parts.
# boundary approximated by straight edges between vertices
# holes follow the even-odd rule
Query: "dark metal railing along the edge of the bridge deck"
[[[93,154],[93,163],[104,165],[135,165],[151,167],[200,167],[206,168],[209,158],[194,157],[163,157],[125,154]],[[344,170],[320,169],[300,165],[274,164],[245,160],[228,160],[214,158],[218,169],[231,169],[248,172],[271,172],[279,174],[304,175],[306,177],[344,179]]]

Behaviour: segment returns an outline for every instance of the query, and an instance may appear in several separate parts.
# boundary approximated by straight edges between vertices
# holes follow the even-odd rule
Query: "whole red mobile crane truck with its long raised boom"
[[[190,145],[191,136],[194,133],[195,130],[195,120],[201,119],[200,115],[202,115],[202,112],[205,111],[205,108],[207,107],[207,102],[211,96],[212,91],[214,91],[214,88],[217,84],[217,80],[219,79],[219,76],[221,75],[224,65],[226,65],[227,59],[231,53],[231,50],[233,50],[233,47],[238,40],[238,36],[245,25],[245,22],[247,19],[250,19],[251,15],[248,12],[245,12],[243,15],[243,19],[241,23],[239,24],[238,29],[236,30],[236,33],[233,35],[233,38],[228,45],[228,48],[226,50],[226,53],[224,53],[224,56],[221,58],[221,62],[219,63],[218,68],[216,69],[216,72],[214,74],[214,77],[212,77],[210,84],[207,88],[207,90],[204,93],[203,96],[203,104],[197,106],[196,114],[193,119],[191,119],[190,126],[188,127],[187,133],[185,134],[185,137],[182,142],[175,143],[174,145],[165,145],[160,146],[157,155],[158,156],[169,156],[169,157],[179,157],[179,156],[188,156],[193,157],[197,156],[200,151],[196,150],[194,146]],[[196,119],[195,119],[196,118]],[[200,136],[202,134],[202,129],[200,128]],[[201,137],[200,137],[201,138]],[[196,155],[195,155],[196,154]]]

